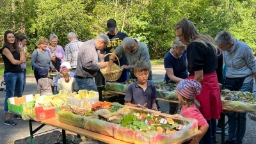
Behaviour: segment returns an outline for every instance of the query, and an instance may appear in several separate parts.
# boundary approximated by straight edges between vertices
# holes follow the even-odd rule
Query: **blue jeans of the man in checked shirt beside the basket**
[[[95,92],[98,92],[97,86],[94,83],[92,78],[88,78],[88,79],[76,78],[76,83],[77,83],[79,90],[88,90],[88,91],[93,90]]]

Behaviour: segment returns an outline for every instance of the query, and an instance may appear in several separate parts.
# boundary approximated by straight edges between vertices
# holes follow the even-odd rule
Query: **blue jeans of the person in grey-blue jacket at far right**
[[[253,80],[249,83],[244,83],[239,89],[241,92],[251,92],[253,91]],[[228,116],[228,140],[236,141],[237,138],[237,115],[236,112],[229,112],[226,114]],[[240,113],[240,127],[239,127],[239,140],[237,143],[243,143],[244,133],[246,131],[246,113]]]

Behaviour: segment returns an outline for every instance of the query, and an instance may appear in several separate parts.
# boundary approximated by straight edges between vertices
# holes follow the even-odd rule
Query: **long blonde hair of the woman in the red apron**
[[[214,40],[209,35],[202,35],[198,33],[195,25],[188,19],[180,20],[175,28],[174,31],[177,29],[182,29],[182,40],[186,44],[191,44],[191,42],[200,42],[210,49],[213,49],[215,54],[217,54],[217,47],[214,44]],[[209,47],[211,46],[211,47]]]

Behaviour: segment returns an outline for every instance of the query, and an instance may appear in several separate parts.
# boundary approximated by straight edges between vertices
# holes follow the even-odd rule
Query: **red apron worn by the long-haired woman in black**
[[[194,78],[195,76],[188,77],[188,79]],[[201,105],[199,108],[200,112],[205,120],[211,120],[211,118],[220,119],[220,113],[222,113],[223,110],[216,71],[204,74],[204,80],[201,84],[201,93],[195,97]]]

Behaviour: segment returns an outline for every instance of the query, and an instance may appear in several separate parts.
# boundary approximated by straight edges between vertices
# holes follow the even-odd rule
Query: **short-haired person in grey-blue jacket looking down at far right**
[[[256,79],[256,64],[252,49],[232,38],[228,31],[221,31],[216,35],[215,43],[223,51],[224,63],[227,67],[224,86],[229,90],[242,92],[253,91],[253,77]],[[238,82],[238,83],[237,83]],[[226,144],[243,143],[246,131],[246,113],[240,113],[240,129],[237,131],[237,113],[229,112],[228,116],[228,139]],[[239,134],[239,140],[237,140]]]

